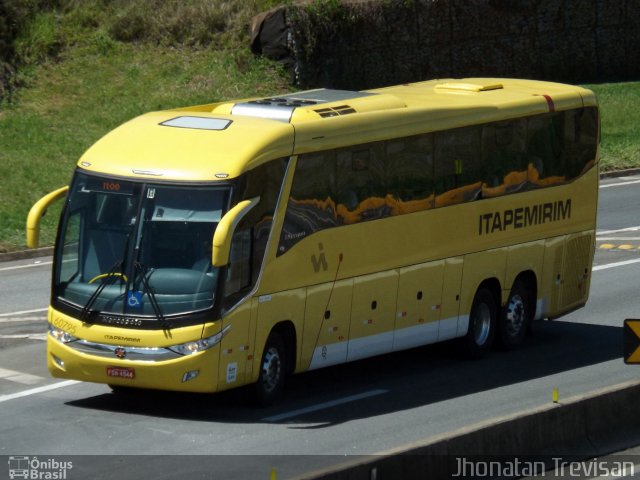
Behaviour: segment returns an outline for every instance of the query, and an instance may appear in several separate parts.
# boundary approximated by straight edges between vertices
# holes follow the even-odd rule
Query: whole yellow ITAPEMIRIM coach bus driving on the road
[[[27,219],[56,241],[48,367],[213,392],[459,338],[520,345],[587,301],[599,119],[584,88],[434,80],[153,112]]]

